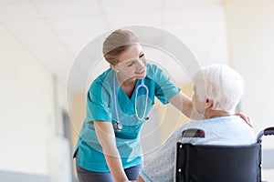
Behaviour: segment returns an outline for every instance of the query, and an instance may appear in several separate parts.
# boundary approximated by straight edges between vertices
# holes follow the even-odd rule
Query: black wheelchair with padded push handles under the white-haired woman
[[[177,142],[176,182],[262,182],[262,136],[274,135],[274,127],[258,133],[248,146],[194,146]],[[205,137],[200,129],[184,130],[182,136]]]

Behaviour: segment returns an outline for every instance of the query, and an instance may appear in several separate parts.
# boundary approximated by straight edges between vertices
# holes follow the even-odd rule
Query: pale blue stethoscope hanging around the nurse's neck
[[[114,97],[114,106],[115,106],[115,113],[116,113],[116,122],[114,124],[114,129],[116,131],[121,131],[122,124],[120,122],[119,115],[118,115],[115,83],[116,83],[116,76],[115,76],[115,74],[113,74],[113,97]],[[139,89],[142,88],[142,87],[145,89],[146,97],[145,97],[144,111],[143,111],[142,117],[140,117],[138,115],[138,112],[137,112],[137,96],[138,96]],[[135,89],[135,107],[134,107],[134,109],[135,109],[135,116],[138,120],[148,119],[148,118],[144,117],[145,113],[146,113],[146,109],[147,109],[148,95],[149,95],[148,87],[144,85],[143,78],[142,78],[141,84],[139,86],[137,86],[136,89]]]

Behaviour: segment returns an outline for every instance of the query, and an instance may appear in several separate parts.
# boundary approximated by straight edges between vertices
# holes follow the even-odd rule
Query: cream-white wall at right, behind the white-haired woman
[[[225,6],[230,59],[246,83],[242,108],[258,133],[274,126],[274,1],[227,0]],[[264,137],[263,148],[274,152],[273,141],[273,137]],[[274,179],[273,171],[272,176],[268,170],[263,172],[265,179]]]

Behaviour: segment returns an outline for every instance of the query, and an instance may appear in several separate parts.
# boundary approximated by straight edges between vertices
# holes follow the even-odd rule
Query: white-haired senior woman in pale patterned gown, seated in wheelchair
[[[235,70],[223,65],[205,66],[195,75],[194,91],[193,107],[205,119],[178,129],[142,169],[137,181],[173,181],[176,141],[185,129],[199,128],[206,136],[182,138],[183,143],[237,146],[255,142],[249,123],[234,115],[244,92],[242,77]]]

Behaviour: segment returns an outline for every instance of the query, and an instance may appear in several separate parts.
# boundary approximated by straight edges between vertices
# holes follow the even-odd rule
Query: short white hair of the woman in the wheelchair
[[[229,66],[203,67],[194,78],[195,93],[200,101],[213,100],[213,110],[235,112],[244,94],[242,77]]]

